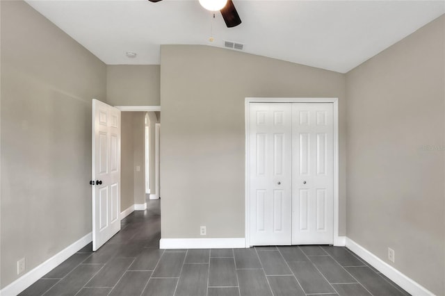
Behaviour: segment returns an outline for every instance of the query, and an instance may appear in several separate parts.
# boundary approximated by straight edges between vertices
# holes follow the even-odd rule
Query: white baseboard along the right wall
[[[375,256],[350,238],[346,238],[346,247],[357,254],[364,261],[372,265],[375,269],[382,272],[382,274],[385,274],[386,277],[391,279],[391,281],[394,281],[394,283],[397,283],[398,286],[401,286],[401,288],[406,290],[407,293],[416,296],[434,295],[430,290],[421,286],[419,283],[416,283],[416,281],[396,270],[396,268],[392,267],[385,261],[382,261],[382,259],[378,258],[378,256]]]

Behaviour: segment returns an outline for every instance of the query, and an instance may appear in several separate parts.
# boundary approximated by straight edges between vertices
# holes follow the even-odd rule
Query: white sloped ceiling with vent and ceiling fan
[[[443,0],[233,1],[243,21],[235,28],[220,13],[212,21],[197,0],[27,2],[108,65],[159,64],[160,44],[230,40],[250,54],[341,73],[445,13]]]

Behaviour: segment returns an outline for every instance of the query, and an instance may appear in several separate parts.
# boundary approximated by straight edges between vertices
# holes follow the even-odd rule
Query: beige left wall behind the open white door
[[[106,65],[23,1],[1,6],[1,287],[91,231],[91,99]]]

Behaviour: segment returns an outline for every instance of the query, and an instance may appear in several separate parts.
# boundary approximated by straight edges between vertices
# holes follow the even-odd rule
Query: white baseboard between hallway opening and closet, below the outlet
[[[160,249],[245,248],[245,238],[161,238]]]

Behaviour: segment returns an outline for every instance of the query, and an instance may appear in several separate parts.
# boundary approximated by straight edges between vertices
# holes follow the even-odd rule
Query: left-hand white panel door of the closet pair
[[[250,104],[250,244],[291,245],[291,104]]]

